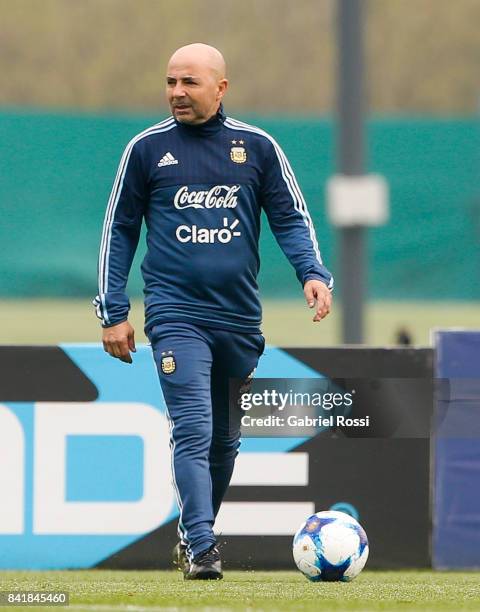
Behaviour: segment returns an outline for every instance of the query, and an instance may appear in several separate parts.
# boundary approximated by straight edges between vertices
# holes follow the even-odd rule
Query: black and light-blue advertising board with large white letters
[[[231,566],[291,568],[293,534],[329,508],[360,518],[371,567],[428,565],[431,351],[267,347],[256,378],[274,383],[268,414],[215,522]],[[311,427],[319,398],[333,416]],[[288,431],[267,437],[274,404]],[[0,568],[170,567],[169,433],[150,347],[133,365],[101,345],[0,347]]]

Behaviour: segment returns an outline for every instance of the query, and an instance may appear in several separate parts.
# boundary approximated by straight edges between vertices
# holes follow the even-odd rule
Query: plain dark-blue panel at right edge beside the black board
[[[436,334],[433,565],[480,567],[480,332]]]

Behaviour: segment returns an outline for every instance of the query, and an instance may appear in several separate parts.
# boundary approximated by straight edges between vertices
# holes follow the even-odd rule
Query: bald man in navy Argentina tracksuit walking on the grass
[[[197,43],[171,57],[172,117],[125,149],[94,300],[105,350],[131,363],[125,286],[145,219],[145,331],[171,423],[176,554],[186,579],[222,578],[212,527],[240,444],[228,381],[251,374],[264,349],[256,284],[262,208],[315,307],[314,321],[329,313],[333,286],[284,153],[262,130],[224,115],[227,86],[218,50]]]

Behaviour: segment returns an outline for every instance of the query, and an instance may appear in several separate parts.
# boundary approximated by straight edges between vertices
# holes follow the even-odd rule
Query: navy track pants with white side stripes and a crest
[[[178,533],[190,558],[215,544],[213,524],[240,446],[240,409],[229,409],[229,380],[256,368],[265,341],[190,323],[149,333],[170,420]]]

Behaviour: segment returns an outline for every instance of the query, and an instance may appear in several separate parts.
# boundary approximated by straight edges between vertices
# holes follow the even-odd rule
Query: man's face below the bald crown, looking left
[[[215,115],[226,79],[208,66],[172,58],[167,67],[167,100],[181,123],[204,123]]]

